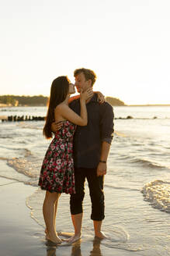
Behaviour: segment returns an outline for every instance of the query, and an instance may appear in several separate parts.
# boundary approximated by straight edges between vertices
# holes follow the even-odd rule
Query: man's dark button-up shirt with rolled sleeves
[[[80,115],[79,99],[69,104]],[[99,104],[97,94],[87,103],[88,125],[77,126],[73,140],[74,162],[77,168],[96,168],[99,164],[102,141],[111,144],[113,139],[113,107]]]

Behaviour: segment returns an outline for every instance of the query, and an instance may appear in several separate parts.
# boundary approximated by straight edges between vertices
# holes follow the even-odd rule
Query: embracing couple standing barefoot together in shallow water
[[[46,190],[43,202],[46,237],[55,244],[61,244],[55,223],[61,193],[71,194],[75,234],[68,242],[74,243],[81,238],[85,179],[92,201],[95,236],[106,238],[101,231],[105,217],[103,182],[113,139],[113,108],[103,101],[101,93],[92,91],[96,76],[91,69],[75,69],[74,76],[75,85],[67,76],[59,76],[53,81],[43,127],[47,138],[54,132],[54,139],[43,159],[39,186]],[[70,94],[75,93],[75,87],[80,96],[71,100]]]

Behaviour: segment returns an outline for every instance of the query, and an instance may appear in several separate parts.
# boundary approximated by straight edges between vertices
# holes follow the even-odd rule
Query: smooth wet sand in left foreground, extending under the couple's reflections
[[[17,181],[0,178],[0,248],[1,255],[27,256],[125,256],[131,252],[104,247],[98,239],[83,234],[82,240],[75,244],[54,246],[44,238],[43,226],[38,225],[30,216],[26,197],[36,187]],[[67,230],[64,230],[67,231]],[[135,254],[137,255],[137,254]]]

